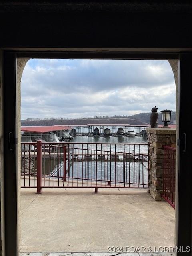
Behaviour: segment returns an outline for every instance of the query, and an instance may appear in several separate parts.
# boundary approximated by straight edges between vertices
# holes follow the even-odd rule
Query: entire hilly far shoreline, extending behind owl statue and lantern
[[[77,119],[43,119],[38,120],[38,118],[28,118],[26,120],[21,120],[22,126],[52,126],[56,124],[77,124],[77,125],[87,125],[87,124],[130,124],[130,125],[148,125],[151,113],[140,113],[133,116],[116,116],[114,117],[95,117],[95,118],[77,118]],[[172,112],[170,124],[175,124],[176,114]],[[163,124],[161,122],[161,113],[159,113],[158,124]]]

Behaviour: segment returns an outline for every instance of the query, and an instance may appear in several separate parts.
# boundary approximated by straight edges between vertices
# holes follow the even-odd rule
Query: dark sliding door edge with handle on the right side
[[[179,140],[177,184],[177,246],[190,246],[192,254],[192,136],[190,132],[192,108],[192,53],[179,58]],[[179,252],[178,255],[182,255]]]

